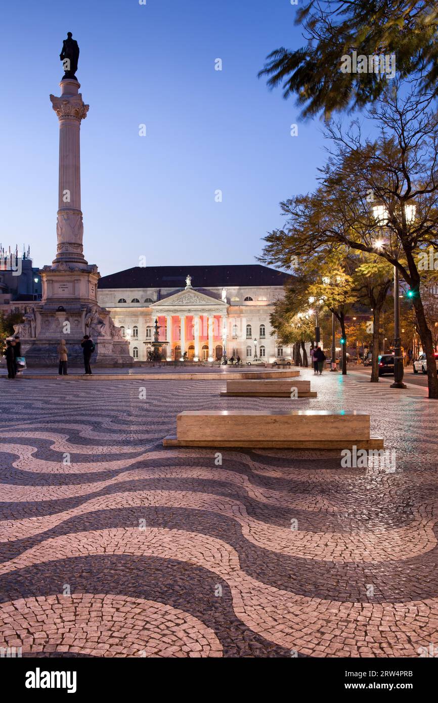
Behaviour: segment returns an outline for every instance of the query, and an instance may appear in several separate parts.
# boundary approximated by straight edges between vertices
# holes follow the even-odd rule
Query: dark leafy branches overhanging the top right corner
[[[308,0],[297,10],[307,46],[275,49],[259,76],[283,95],[297,96],[303,117],[361,108],[382,96],[387,75],[342,72],[342,57],[395,56],[397,72],[422,72],[418,93],[437,92],[438,10],[436,0]]]

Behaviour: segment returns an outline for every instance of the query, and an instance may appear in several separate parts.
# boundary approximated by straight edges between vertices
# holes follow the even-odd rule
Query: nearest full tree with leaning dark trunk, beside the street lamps
[[[282,203],[288,226],[265,238],[263,258],[287,266],[295,256],[302,266],[344,246],[397,267],[412,293],[429,397],[438,399],[420,269],[423,250],[438,250],[438,115],[431,102],[414,86],[403,97],[397,86],[386,91],[369,112],[380,128],[375,141],[364,139],[357,123],[346,134],[331,125],[333,148],[320,186]]]

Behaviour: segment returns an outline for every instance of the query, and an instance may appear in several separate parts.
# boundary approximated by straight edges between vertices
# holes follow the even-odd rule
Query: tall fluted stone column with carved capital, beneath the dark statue
[[[75,269],[85,269],[82,238],[84,225],[81,210],[81,162],[79,132],[89,105],[84,105],[80,84],[74,79],[60,82],[59,98],[51,95],[53,110],[59,119],[59,183],[58,221],[56,235],[58,247],[53,268],[60,264],[74,264]],[[65,266],[64,266],[65,268]]]

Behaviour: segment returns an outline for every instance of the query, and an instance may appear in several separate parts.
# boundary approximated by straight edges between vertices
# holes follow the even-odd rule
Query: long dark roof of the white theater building
[[[233,266],[134,266],[99,279],[98,288],[185,288],[191,276],[193,288],[220,286],[284,285],[288,273],[261,264]]]

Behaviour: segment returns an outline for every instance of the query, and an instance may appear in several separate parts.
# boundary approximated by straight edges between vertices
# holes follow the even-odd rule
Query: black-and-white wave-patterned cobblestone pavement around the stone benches
[[[425,389],[311,378],[1,379],[0,647],[23,656],[418,657],[438,643],[437,410]],[[292,382],[293,383],[293,382]],[[395,450],[163,449],[176,413],[371,414]]]

